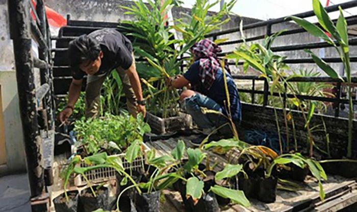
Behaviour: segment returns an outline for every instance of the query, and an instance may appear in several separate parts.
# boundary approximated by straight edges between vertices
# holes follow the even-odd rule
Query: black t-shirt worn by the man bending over
[[[132,65],[132,43],[120,32],[115,29],[101,29],[90,33],[88,36],[95,38],[99,42],[100,49],[103,52],[101,65],[94,75],[106,74],[119,66],[126,70]],[[87,74],[83,70],[75,69],[72,77],[76,80],[81,80],[85,75]]]

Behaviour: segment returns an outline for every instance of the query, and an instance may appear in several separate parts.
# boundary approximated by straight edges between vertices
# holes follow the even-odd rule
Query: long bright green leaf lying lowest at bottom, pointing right
[[[249,200],[245,197],[244,192],[239,190],[228,189],[219,185],[211,187],[211,191],[223,198],[229,198],[232,202],[244,207],[250,207]]]

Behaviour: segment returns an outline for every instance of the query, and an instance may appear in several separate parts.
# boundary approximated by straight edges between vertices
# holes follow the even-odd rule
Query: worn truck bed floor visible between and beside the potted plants
[[[190,140],[193,138],[195,138],[195,135],[179,136],[167,140],[147,142],[146,144],[150,148],[155,148],[157,150],[157,156],[159,156],[170,154],[180,139],[184,140],[187,147],[193,147],[190,143]],[[224,163],[227,162],[227,158],[224,155],[218,155],[211,151],[207,153],[212,159],[211,163],[218,162],[215,169],[221,170]],[[233,153],[233,155],[235,154],[239,155],[239,152]],[[265,204],[258,200],[250,199],[252,206],[249,208],[243,208],[239,205],[229,205],[223,208],[222,211],[339,211],[357,202],[357,183],[352,179],[328,175],[327,180],[323,182],[326,194],[325,201],[323,202],[319,197],[317,181],[313,177],[308,176],[305,183],[300,183],[299,185],[301,189],[296,192],[278,189],[274,203]],[[165,197],[168,202],[165,203],[165,207],[162,211],[184,211],[181,196],[178,192],[165,192]],[[169,207],[168,204],[171,204],[170,210],[167,210]],[[357,209],[354,211],[357,211]]]

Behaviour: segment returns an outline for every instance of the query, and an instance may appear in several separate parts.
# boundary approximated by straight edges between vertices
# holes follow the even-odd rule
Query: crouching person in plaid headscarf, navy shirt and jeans
[[[231,117],[233,122],[238,124],[241,120],[239,93],[227,61],[224,61],[230,99],[228,108],[224,72],[217,57],[217,54],[222,52],[221,48],[211,40],[204,39],[193,45],[191,52],[195,62],[183,76],[177,76],[169,82],[174,88],[185,86],[191,88],[184,90],[180,96],[180,101],[185,104],[187,112],[206,135],[229,122],[227,117]],[[222,115],[204,108],[215,110]]]

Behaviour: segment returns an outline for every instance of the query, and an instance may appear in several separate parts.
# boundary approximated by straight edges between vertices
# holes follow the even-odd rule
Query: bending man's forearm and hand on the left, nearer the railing
[[[81,93],[81,88],[82,88],[82,79],[81,80],[75,80],[72,79],[72,82],[69,86],[69,91],[68,91],[68,103],[66,108],[64,108],[60,115],[59,119],[60,121],[66,122],[68,117],[72,114],[73,108],[75,103],[77,102],[78,98],[80,97]]]

